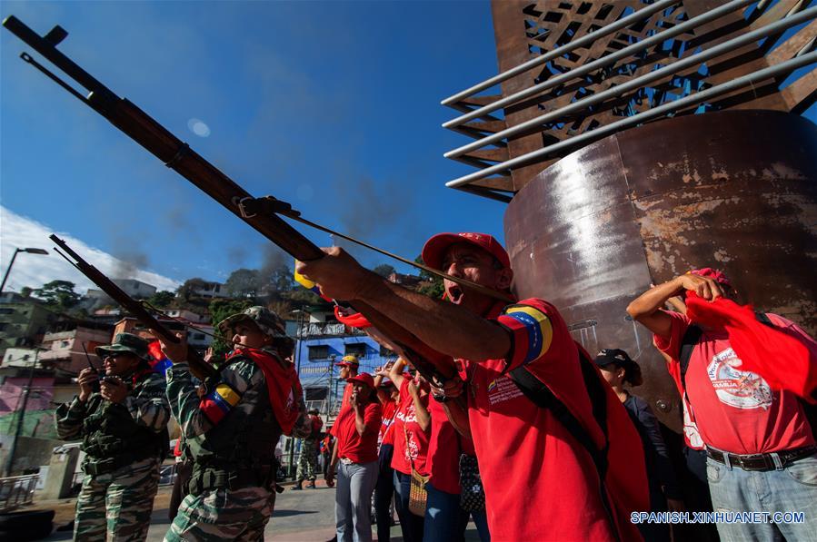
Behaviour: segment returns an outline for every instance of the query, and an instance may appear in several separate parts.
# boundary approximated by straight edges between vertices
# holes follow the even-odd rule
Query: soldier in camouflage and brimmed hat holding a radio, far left
[[[97,347],[105,363],[79,373],[79,395],[56,409],[60,439],[83,439],[83,486],[75,540],[144,540],[167,455],[170,409],[164,378],[147,363],[147,342],[119,333]]]

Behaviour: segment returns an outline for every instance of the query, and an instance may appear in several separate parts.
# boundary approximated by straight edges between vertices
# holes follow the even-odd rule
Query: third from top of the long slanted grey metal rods
[[[544,113],[543,115],[525,121],[524,123],[519,123],[511,128],[506,128],[501,132],[492,133],[491,135],[484,137],[483,139],[480,139],[473,143],[469,143],[458,149],[454,149],[450,153],[445,153],[445,157],[455,158],[462,153],[469,153],[474,149],[493,143],[494,138],[505,139],[506,137],[511,137],[517,133],[523,133],[529,128],[540,126],[543,123],[551,122],[566,114],[581,111],[590,105],[594,105],[595,103],[602,103],[604,100],[607,100],[608,98],[621,96],[627,92],[630,92],[631,90],[637,89],[643,84],[651,83],[657,79],[661,79],[667,74],[675,74],[684,68],[690,67],[695,64],[701,64],[702,62],[705,62],[711,58],[714,58],[724,53],[728,53],[734,49],[742,47],[745,44],[750,44],[767,35],[782,32],[786,28],[789,28],[794,25],[800,25],[802,22],[812,19],[814,17],[817,17],[817,6],[802,11],[799,14],[784,17],[779,21],[775,21],[773,23],[770,23],[769,25],[762,26],[757,30],[752,30],[752,32],[742,34],[738,37],[732,38],[727,42],[723,42],[720,45],[716,45],[712,47],[712,49],[707,49],[702,53],[688,56],[687,58],[679,60],[678,62],[668,64],[661,68],[660,70],[655,70],[654,72],[650,72],[649,74],[643,74],[641,77],[636,77],[635,79],[631,79],[626,83],[613,86],[601,93],[591,94],[586,98],[583,98],[582,100],[570,103],[569,105],[565,105],[564,107],[556,109],[550,113]],[[805,53],[808,53],[808,51],[802,50],[802,54]]]

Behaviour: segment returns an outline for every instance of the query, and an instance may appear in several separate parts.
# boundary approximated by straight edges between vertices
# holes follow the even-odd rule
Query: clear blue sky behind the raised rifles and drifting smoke
[[[443,158],[466,140],[440,126],[453,116],[440,100],[496,73],[488,2],[4,2],[7,15],[39,34],[62,25],[77,64],[315,222],[409,258],[434,232],[502,236],[503,204],[443,187],[473,171]],[[3,266],[30,246],[25,219],[175,281],[261,264],[259,234],[0,40]],[[25,254],[10,284],[44,266],[65,267]]]

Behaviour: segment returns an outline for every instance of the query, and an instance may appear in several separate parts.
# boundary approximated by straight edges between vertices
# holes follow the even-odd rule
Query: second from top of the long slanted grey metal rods
[[[501,100],[497,100],[496,102],[489,103],[487,105],[483,105],[479,109],[474,109],[471,113],[465,113],[463,115],[458,116],[457,118],[450,120],[448,122],[443,123],[443,128],[451,128],[452,126],[456,126],[470,120],[473,120],[477,117],[483,116],[485,114],[491,113],[492,111],[496,111],[505,105],[510,105],[511,103],[516,103],[524,98],[533,96],[534,94],[540,94],[543,91],[553,88],[556,85],[563,84],[567,81],[571,81],[576,77],[580,77],[584,74],[590,74],[595,70],[615,62],[621,58],[626,58],[627,56],[632,55],[633,53],[637,53],[650,47],[654,44],[660,44],[663,41],[666,41],[668,38],[673,37],[674,35],[683,34],[687,30],[692,28],[696,28],[700,25],[705,25],[722,15],[727,15],[732,13],[735,10],[742,8],[745,5],[750,5],[755,0],[732,0],[729,4],[722,5],[712,11],[708,11],[702,15],[698,15],[697,17],[693,17],[689,21],[682,23],[681,25],[675,25],[672,28],[667,28],[663,32],[658,34],[654,34],[646,39],[643,39],[640,42],[636,42],[635,44],[629,45],[624,47],[620,51],[616,51],[615,53],[607,54],[602,58],[594,60],[591,63],[584,64],[575,68],[565,74],[556,75],[555,77],[551,77],[547,81],[543,81],[540,84],[534,84],[532,87],[526,88],[524,90],[519,91],[518,93],[511,94],[510,96],[506,96]],[[589,34],[588,34],[589,35]],[[465,145],[468,146],[468,145]],[[460,147],[463,149],[464,147]],[[445,157],[449,158],[449,154],[460,153],[460,149],[456,151],[452,151],[451,153],[445,153]]]

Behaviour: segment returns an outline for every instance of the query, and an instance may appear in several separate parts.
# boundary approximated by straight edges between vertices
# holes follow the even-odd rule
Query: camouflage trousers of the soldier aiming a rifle
[[[198,496],[188,495],[164,540],[264,540],[274,505],[274,491],[265,488],[210,489]]]

